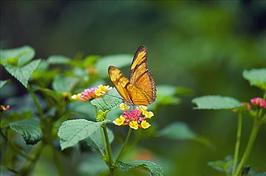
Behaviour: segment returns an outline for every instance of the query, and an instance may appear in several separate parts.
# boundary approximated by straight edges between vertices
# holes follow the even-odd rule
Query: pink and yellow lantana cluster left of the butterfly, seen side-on
[[[91,101],[93,99],[103,97],[104,94],[112,89],[109,85],[98,85],[98,87],[92,87],[91,89],[85,89],[79,94],[73,95],[71,98],[73,100],[80,100],[83,102]]]

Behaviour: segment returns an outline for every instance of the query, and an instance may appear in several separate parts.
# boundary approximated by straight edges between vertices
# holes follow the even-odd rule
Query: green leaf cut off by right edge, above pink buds
[[[250,85],[266,91],[266,68],[244,70],[242,75]]]

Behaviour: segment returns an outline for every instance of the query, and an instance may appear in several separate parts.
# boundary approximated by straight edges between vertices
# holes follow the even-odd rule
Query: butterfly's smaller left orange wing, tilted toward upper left
[[[128,79],[124,76],[122,71],[115,66],[108,67],[108,73],[111,81],[113,82],[115,89],[120,94],[120,96],[126,101],[131,102],[129,94],[126,90],[127,84],[129,84]]]

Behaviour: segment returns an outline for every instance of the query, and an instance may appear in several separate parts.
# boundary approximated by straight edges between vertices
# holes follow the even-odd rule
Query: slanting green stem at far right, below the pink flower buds
[[[234,176],[238,176],[240,174],[243,165],[247,161],[248,155],[249,155],[249,153],[251,151],[251,148],[252,148],[253,143],[255,141],[255,138],[257,136],[257,133],[258,133],[258,130],[259,130],[259,125],[260,125],[260,122],[258,121],[257,118],[255,118],[254,122],[253,122],[252,130],[251,130],[251,133],[250,133],[250,136],[249,136],[249,139],[248,139],[248,143],[247,143],[246,149],[244,151],[244,154],[243,154],[243,156],[241,158],[241,161],[240,161],[240,163],[239,163],[239,165],[237,167],[237,170],[236,170]]]

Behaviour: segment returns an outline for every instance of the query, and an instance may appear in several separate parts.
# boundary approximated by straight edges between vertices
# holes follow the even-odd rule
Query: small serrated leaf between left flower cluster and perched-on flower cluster
[[[104,111],[111,111],[112,109],[118,107],[122,103],[121,99],[110,97],[110,96],[103,96],[98,99],[94,99],[91,101],[92,105],[95,105],[97,108]]]

